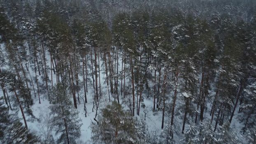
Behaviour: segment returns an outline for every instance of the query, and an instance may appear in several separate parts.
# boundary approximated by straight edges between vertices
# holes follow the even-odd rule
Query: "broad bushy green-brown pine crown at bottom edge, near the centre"
[[[92,124],[93,142],[107,144],[139,143],[134,120],[117,102],[102,109],[99,124]]]

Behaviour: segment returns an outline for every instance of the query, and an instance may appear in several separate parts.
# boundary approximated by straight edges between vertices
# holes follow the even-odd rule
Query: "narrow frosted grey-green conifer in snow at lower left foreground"
[[[80,119],[78,112],[72,107],[70,95],[67,95],[66,86],[58,83],[51,89],[50,105],[52,125],[55,128],[58,143],[75,144],[76,139],[80,137]]]

